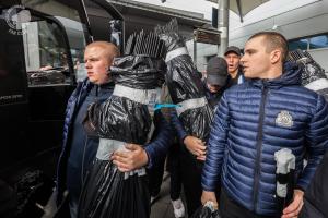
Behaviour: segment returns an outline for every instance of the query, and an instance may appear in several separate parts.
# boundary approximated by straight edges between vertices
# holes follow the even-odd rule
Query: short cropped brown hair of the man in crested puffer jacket
[[[283,63],[289,55],[289,46],[285,37],[278,32],[259,32],[248,38],[248,40],[262,36],[267,46],[266,51],[271,52],[274,49],[281,50],[281,62]]]

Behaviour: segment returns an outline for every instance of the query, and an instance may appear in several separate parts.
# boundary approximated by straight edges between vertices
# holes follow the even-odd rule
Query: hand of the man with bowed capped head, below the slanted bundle
[[[197,156],[197,159],[199,160],[206,159],[207,147],[204,146],[204,142],[202,142],[197,137],[188,135],[184,140],[184,144],[192,155]]]

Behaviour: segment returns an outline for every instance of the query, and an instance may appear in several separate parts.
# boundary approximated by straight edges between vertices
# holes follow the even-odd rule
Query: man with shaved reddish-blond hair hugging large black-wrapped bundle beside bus
[[[59,217],[77,217],[77,207],[81,194],[82,184],[86,172],[95,158],[99,138],[87,135],[82,122],[87,112],[87,107],[94,101],[103,102],[109,98],[114,90],[114,82],[108,74],[112,61],[119,55],[117,47],[107,41],[94,41],[89,44],[84,52],[87,78],[78,84],[69,98],[63,126],[63,144],[57,169],[57,205],[63,203],[65,192],[68,191],[69,210],[61,207]],[[168,123],[159,114],[155,136],[144,149],[139,145],[130,145],[128,152],[120,154],[117,160],[118,169],[130,171],[140,166],[148,168],[164,158],[171,137]],[[119,155],[118,155],[119,156]]]

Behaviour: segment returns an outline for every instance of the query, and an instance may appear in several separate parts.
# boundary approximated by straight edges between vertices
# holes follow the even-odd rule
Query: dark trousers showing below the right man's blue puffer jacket
[[[269,216],[256,215],[249,211],[245,207],[234,202],[226,194],[224,189],[221,190],[219,207],[222,218],[274,218]]]

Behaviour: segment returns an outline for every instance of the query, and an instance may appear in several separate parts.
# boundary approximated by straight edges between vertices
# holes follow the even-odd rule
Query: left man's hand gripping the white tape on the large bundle
[[[148,164],[145,150],[137,144],[127,144],[128,150],[117,150],[110,156],[110,160],[121,172],[129,172]]]

